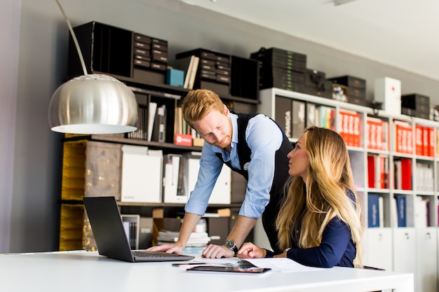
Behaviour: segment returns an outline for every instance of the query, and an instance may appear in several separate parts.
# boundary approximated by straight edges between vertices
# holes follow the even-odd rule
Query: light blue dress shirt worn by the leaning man
[[[202,216],[208,207],[208,200],[223,167],[223,162],[219,160],[215,153],[221,153],[225,162],[231,161],[233,167],[241,169],[236,149],[238,143],[238,116],[230,113],[229,117],[233,128],[231,152],[229,153],[222,148],[204,142],[198,179],[184,209],[186,212]],[[269,192],[274,177],[275,155],[281,147],[283,134],[273,120],[259,114],[248,121],[245,140],[252,154],[248,165],[248,184],[245,199],[241,205],[239,215],[259,218],[270,200]]]

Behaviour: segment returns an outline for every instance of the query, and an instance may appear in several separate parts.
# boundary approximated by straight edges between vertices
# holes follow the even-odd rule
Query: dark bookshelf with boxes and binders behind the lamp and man
[[[128,85],[135,93],[139,105],[139,127],[127,134],[66,135],[63,141],[59,249],[95,249],[82,204],[84,196],[116,197],[121,214],[141,215],[140,233],[144,229],[146,233],[154,234],[152,218],[163,218],[165,221],[169,218],[169,222],[175,223],[173,226],[176,230],[173,231],[179,230],[181,220],[177,218],[184,216],[184,204],[190,192],[185,186],[196,180],[198,169],[189,168],[182,162],[180,167],[170,169],[166,165],[169,162],[166,158],[175,155],[181,158],[180,161],[184,158],[186,163],[189,158],[186,160],[185,155],[201,153],[203,144],[199,143],[202,139],[197,140],[198,144],[193,143],[192,134],[195,133],[189,132],[179,110],[182,99],[192,87],[170,85],[174,83],[167,78],[168,67],[178,67],[177,62],[168,62],[172,60],[168,58],[168,41],[95,21],[74,27],[74,31],[88,72],[110,75]],[[231,111],[256,111],[259,102],[256,60],[205,49],[196,49],[192,53],[200,55],[203,57],[201,61],[205,61],[194,65],[194,72],[197,72],[191,78],[192,83],[195,81],[194,89],[205,88],[217,92]],[[177,54],[176,59],[180,59],[180,55]],[[82,74],[78,61],[76,48],[70,39],[69,78]],[[208,70],[206,62],[216,64],[216,68]],[[218,62],[224,67],[219,71]],[[184,70],[187,72],[187,69]],[[219,76],[202,76],[203,71],[206,74],[214,71]],[[196,159],[199,157],[190,159],[191,165],[198,165]],[[166,169],[170,171],[166,172]],[[170,188],[166,184],[170,181],[166,179],[166,174],[176,174],[180,188]],[[221,189],[217,190],[220,186]],[[173,193],[170,189],[174,190],[174,187]],[[228,218],[209,219],[208,225],[215,227],[215,232],[222,235],[222,239],[212,243],[224,243],[224,237],[227,237],[236,221],[245,188],[245,179],[228,167],[223,167],[206,211],[227,208],[231,215]],[[142,195],[138,195],[140,193]],[[179,200],[168,200],[165,194],[179,197]],[[144,218],[151,220],[147,227],[142,228],[142,222],[146,222]],[[154,241],[149,240],[149,246],[151,243]],[[139,248],[149,246],[139,243]]]

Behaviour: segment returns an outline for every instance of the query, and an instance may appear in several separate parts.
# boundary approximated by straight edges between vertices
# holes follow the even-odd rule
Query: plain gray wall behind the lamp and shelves
[[[6,11],[19,7],[14,0],[7,1]],[[374,78],[389,76],[402,81],[403,93],[429,95],[433,104],[439,104],[435,94],[439,92],[439,81],[365,60],[355,52],[333,50],[176,0],[66,0],[62,5],[74,26],[96,20],[166,39],[171,60],[175,53],[193,48],[241,57],[249,57],[262,46],[283,48],[305,53],[308,67],[325,71],[328,77],[350,74],[365,78],[368,95],[372,95]],[[8,15],[6,11],[1,10],[1,18]],[[0,165],[0,211],[1,223],[8,219],[11,222],[11,238],[8,246],[4,242],[8,238],[8,226],[0,225],[0,251],[48,251],[55,249],[58,242],[61,137],[50,132],[47,109],[51,95],[65,77],[68,29],[55,1],[22,0],[20,12],[13,11],[11,20],[13,32],[20,29],[18,67],[8,60],[6,69],[3,65],[0,69],[2,76],[14,75],[18,70],[18,80],[1,78],[8,85],[8,92],[4,102],[2,85],[0,162],[5,160],[6,165]],[[1,36],[6,34],[6,40],[12,41],[7,49],[14,55],[18,44],[16,35],[8,30],[11,24],[1,25],[0,31]],[[11,141],[5,142],[4,137]],[[4,221],[11,199],[11,216]]]

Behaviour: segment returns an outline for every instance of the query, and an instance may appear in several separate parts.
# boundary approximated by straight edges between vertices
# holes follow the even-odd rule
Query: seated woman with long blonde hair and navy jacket
[[[362,267],[363,223],[349,153],[337,132],[308,127],[288,153],[292,183],[276,219],[275,254],[251,242],[239,258],[288,257],[313,267]]]

